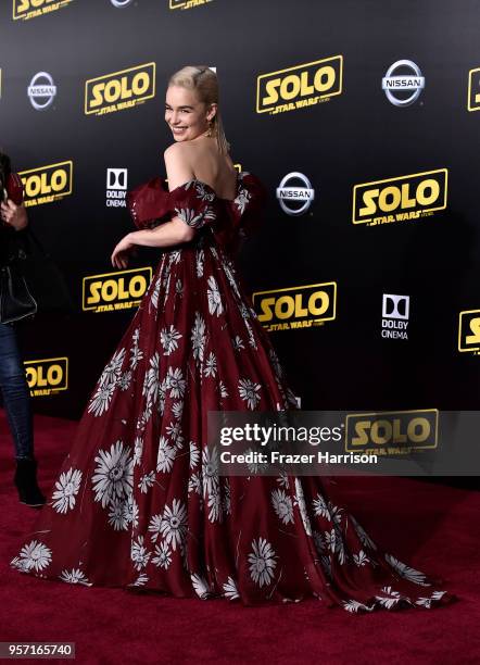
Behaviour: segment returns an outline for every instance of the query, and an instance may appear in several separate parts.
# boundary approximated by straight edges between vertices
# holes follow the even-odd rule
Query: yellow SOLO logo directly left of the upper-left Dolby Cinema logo
[[[25,206],[52,203],[71,195],[73,171],[72,161],[21,171],[20,176],[25,188]]]

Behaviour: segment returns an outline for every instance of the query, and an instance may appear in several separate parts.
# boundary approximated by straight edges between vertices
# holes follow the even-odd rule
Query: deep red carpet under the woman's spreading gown
[[[75,423],[36,416],[47,490]],[[12,485],[0,411],[0,641],[70,641],[78,663],[479,663],[480,494],[402,478],[339,478],[345,504],[384,549],[440,575],[459,601],[437,610],[350,615],[316,601],[261,608],[71,587],[9,566],[36,512]],[[414,517],[412,518],[412,515]]]

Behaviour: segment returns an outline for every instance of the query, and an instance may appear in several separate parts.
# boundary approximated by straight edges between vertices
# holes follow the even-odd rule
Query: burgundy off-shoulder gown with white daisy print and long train
[[[265,188],[240,172],[232,201],[197,178],[170,192],[155,178],[136,193],[137,226],[178,215],[198,230],[162,252],[11,565],[245,605],[316,598],[370,612],[454,600],[441,580],[382,551],[329,495],[331,479],[218,475],[210,410],[298,407],[236,265]]]

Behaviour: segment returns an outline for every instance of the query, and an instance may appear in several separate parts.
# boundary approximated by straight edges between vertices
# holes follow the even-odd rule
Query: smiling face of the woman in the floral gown
[[[191,141],[207,131],[215,108],[216,104],[210,104],[207,109],[193,90],[169,86],[165,99],[165,122],[176,141]]]

